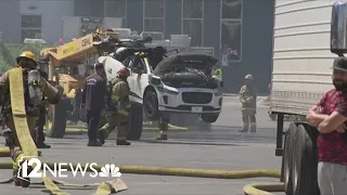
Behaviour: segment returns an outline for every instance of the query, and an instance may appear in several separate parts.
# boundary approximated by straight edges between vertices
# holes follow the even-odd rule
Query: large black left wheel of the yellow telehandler
[[[64,99],[55,105],[50,105],[46,117],[46,130],[48,138],[64,138],[67,119],[66,108],[68,104],[69,100]]]

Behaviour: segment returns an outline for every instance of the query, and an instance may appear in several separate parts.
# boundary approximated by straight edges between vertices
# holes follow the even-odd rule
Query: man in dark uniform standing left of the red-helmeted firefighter
[[[98,126],[107,92],[104,65],[97,63],[94,74],[87,77],[82,92],[82,108],[87,109],[88,146],[102,146],[98,141]]]

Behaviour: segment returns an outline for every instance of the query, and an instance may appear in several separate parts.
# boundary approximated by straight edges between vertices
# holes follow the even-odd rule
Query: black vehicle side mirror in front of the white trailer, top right
[[[330,50],[339,56],[347,53],[347,3],[335,2],[332,9]]]

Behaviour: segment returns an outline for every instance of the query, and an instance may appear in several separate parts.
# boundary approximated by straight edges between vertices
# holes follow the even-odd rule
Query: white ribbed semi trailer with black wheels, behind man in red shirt
[[[282,156],[287,195],[320,194],[318,131],[305,117],[333,89],[333,61],[347,51],[346,16],[345,2],[275,0],[270,113],[277,115],[275,155]],[[283,127],[285,115],[304,120]]]

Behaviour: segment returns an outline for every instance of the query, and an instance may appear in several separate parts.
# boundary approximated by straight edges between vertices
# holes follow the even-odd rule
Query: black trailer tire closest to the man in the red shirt
[[[317,133],[316,133],[317,134]],[[295,136],[295,158],[293,165],[293,194],[319,195],[317,182],[317,135],[314,128],[298,126]]]

